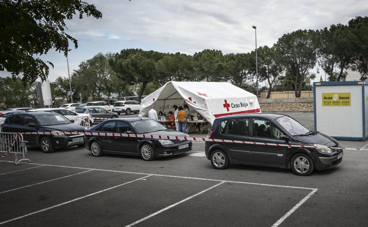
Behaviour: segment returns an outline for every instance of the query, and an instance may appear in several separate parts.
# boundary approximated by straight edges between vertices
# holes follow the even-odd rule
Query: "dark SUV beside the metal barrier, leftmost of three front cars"
[[[84,127],[53,112],[22,112],[7,116],[2,125],[3,132],[84,132]],[[67,146],[84,146],[84,135],[32,135],[24,134],[26,145],[40,146],[45,153]]]

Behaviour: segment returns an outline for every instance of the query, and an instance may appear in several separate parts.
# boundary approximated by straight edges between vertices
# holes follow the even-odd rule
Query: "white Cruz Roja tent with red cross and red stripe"
[[[139,116],[146,116],[152,105],[158,113],[167,114],[174,112],[173,105],[184,103],[191,113],[198,112],[211,125],[216,117],[261,112],[255,95],[230,83],[170,81],[142,100]]]

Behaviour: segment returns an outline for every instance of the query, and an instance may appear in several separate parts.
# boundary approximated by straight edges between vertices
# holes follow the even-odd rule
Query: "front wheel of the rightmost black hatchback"
[[[309,155],[297,153],[293,156],[290,163],[293,173],[298,176],[308,176],[314,170],[313,160]]]

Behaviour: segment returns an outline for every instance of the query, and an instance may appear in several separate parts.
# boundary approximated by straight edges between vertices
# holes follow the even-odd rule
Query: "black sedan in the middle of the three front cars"
[[[106,120],[86,130],[87,134],[88,132],[188,137],[186,133],[168,130],[157,121],[146,117]],[[105,136],[105,134],[100,136],[86,135],[84,143],[93,156],[102,156],[104,153],[135,155],[141,156],[145,161],[152,161],[156,157],[178,155],[192,149],[192,142],[186,140]]]

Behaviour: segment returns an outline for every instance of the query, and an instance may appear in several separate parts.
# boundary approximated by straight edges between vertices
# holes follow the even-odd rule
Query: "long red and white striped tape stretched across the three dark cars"
[[[265,145],[265,146],[285,146],[293,148],[318,148],[317,146],[304,146],[304,145],[291,145],[283,143],[260,143],[260,142],[249,142],[249,141],[237,141],[227,139],[210,139],[210,138],[196,138],[196,137],[183,137],[183,136],[164,136],[164,135],[150,135],[150,134],[124,134],[124,133],[113,133],[113,132],[26,132],[22,134],[36,134],[36,135],[94,135],[94,136],[114,136],[114,137],[137,137],[137,138],[155,138],[155,139],[183,139],[190,141],[199,142],[224,142],[224,143],[244,143],[253,145]],[[344,149],[344,150],[368,150],[360,148],[336,148],[328,147],[330,149]]]

